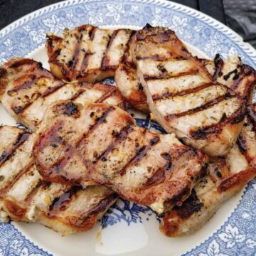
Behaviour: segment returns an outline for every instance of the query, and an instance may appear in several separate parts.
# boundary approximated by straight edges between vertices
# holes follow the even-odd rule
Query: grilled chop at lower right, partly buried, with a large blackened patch
[[[201,228],[221,203],[256,176],[256,105],[248,108],[237,144],[225,157],[211,159],[209,174],[193,189],[182,206],[175,206],[161,221],[160,230],[176,237]]]

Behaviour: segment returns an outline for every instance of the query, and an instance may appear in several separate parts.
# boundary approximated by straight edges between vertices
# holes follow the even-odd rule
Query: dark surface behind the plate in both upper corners
[[[0,29],[16,19],[59,0],[0,0]],[[256,0],[173,0],[226,23],[256,46]],[[224,6],[224,7],[223,7]]]

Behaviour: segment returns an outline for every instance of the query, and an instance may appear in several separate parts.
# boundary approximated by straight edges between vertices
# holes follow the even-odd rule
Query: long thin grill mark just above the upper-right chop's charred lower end
[[[225,95],[219,96],[219,97],[215,98],[214,100],[211,100],[210,102],[207,102],[206,104],[201,105],[200,107],[196,107],[192,110],[184,111],[184,112],[177,113],[177,114],[168,114],[164,118],[166,120],[171,120],[171,119],[175,119],[175,118],[178,118],[178,117],[186,116],[188,114],[195,114],[195,113],[201,112],[203,110],[206,110],[209,107],[212,107],[213,105],[216,105],[216,104],[220,103],[223,100],[227,100],[230,97],[232,97],[232,95],[230,95],[230,92],[227,92],[227,93],[225,93]]]

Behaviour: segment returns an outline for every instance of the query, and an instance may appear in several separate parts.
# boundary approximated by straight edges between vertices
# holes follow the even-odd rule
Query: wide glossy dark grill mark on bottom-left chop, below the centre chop
[[[78,193],[80,189],[81,188],[79,186],[73,186],[72,188],[70,188],[70,190],[63,193],[60,197],[54,198],[49,208],[49,215],[53,216],[59,213],[60,211],[63,211],[66,208],[68,208],[68,205],[72,201],[73,196],[75,196],[75,194]]]

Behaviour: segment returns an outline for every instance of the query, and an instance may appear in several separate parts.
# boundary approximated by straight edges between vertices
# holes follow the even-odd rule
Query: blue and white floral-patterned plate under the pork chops
[[[162,0],[73,0],[40,9],[0,32],[0,64],[28,56],[48,68],[46,32],[60,33],[83,23],[110,28],[169,26],[200,57],[239,54],[256,68],[256,51],[236,33],[205,14]],[[161,131],[149,119],[137,121]],[[15,124],[0,106],[1,123]],[[122,200],[91,231],[68,237],[41,225],[0,223],[0,255],[256,255],[255,198],[256,181],[251,181],[186,238],[164,237],[149,208]]]

